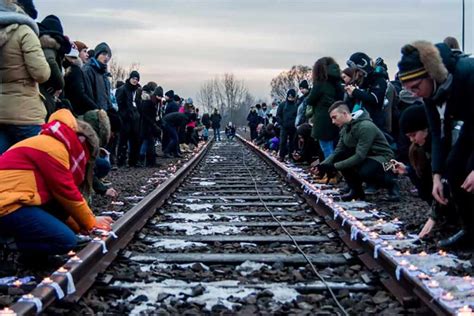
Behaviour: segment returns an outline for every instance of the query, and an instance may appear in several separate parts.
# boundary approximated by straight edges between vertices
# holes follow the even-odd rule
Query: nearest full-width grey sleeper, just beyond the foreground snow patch
[[[282,262],[287,264],[305,264],[306,259],[301,254],[288,255],[285,253],[270,254],[241,254],[241,253],[135,253],[138,262],[162,262],[162,263],[216,263],[230,264],[242,263],[245,261],[275,263]],[[307,255],[308,259],[318,266],[343,265],[347,264],[346,258],[341,254],[324,254]],[[132,257],[133,260],[133,257]]]

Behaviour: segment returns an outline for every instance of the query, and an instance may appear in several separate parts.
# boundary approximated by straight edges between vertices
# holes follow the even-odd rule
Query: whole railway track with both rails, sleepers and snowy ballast
[[[430,296],[391,252],[361,241],[363,227],[350,228],[358,221],[344,220],[336,191],[247,145],[204,147],[114,225],[116,236],[100,235],[12,310],[44,310],[68,284],[66,300],[77,301],[104,271],[93,295],[113,314],[360,314],[381,304],[403,313],[420,300],[437,314],[459,307]]]

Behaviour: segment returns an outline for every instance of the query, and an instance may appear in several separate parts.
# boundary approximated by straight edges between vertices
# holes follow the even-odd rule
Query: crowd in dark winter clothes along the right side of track
[[[299,84],[285,100],[257,104],[247,116],[250,138],[281,161],[311,164],[323,184],[344,179],[341,199],[364,200],[387,189],[399,201],[406,175],[432,212],[421,238],[445,218],[461,229],[440,247],[474,239],[474,59],[447,37],[401,49],[393,80],[382,58],[352,54],[340,70],[318,59],[312,87]]]

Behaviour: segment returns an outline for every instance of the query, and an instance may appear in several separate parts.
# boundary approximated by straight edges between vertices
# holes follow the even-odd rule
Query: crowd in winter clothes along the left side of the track
[[[157,166],[157,144],[163,158],[181,157],[211,127],[220,140],[222,120],[153,81],[141,86],[137,70],[112,82],[107,43],[90,49],[59,17],[37,17],[32,0],[0,0],[0,235],[35,261],[72,249],[75,233],[111,229],[89,203],[117,197],[104,181],[112,169]]]

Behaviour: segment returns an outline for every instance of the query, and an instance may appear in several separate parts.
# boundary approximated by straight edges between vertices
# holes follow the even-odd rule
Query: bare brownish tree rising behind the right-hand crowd
[[[296,89],[304,79],[311,82],[311,67],[295,65],[288,71],[281,72],[270,82],[272,98],[285,99],[289,89]]]

